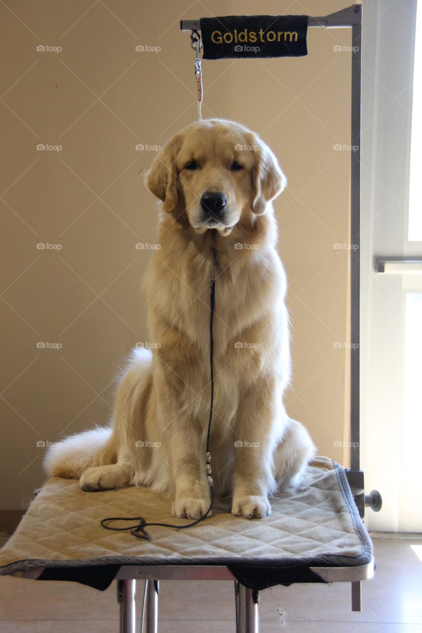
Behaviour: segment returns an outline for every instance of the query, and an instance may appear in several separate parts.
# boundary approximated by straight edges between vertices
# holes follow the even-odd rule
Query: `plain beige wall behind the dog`
[[[139,292],[148,252],[135,244],[155,241],[156,204],[143,186],[155,154],[135,145],[163,145],[196,118],[194,54],[179,19],[326,15],[347,3],[6,4],[0,507],[18,509],[43,481],[37,441],[105,422],[118,363],[148,341]],[[40,44],[63,50],[37,52]],[[162,50],[137,53],[136,44]],[[348,425],[345,351],[333,348],[347,323],[348,253],[333,246],[348,242],[348,153],[333,150],[349,143],[350,54],[333,52],[343,44],[348,30],[312,29],[307,58],[204,62],[203,115],[262,134],[288,176],[275,203],[290,281],[288,410],[321,453],[345,463],[347,451],[333,446]],[[37,151],[39,143],[62,149]],[[39,242],[61,249],[39,250]],[[39,341],[62,347],[37,349]]]

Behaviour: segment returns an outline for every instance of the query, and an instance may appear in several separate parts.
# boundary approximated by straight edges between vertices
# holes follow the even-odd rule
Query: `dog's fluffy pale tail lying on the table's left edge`
[[[112,432],[112,427],[96,427],[57,442],[44,456],[44,470],[50,477],[79,479],[87,468],[115,463]]]

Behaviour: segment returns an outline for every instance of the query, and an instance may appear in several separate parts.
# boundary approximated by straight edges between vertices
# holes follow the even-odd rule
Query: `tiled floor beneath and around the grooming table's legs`
[[[374,539],[374,549],[377,570],[362,585],[362,613],[350,610],[350,584],[274,587],[260,593],[262,633],[422,633],[422,540]],[[138,582],[138,610],[142,591]],[[159,609],[160,633],[235,632],[231,582],[162,581]],[[117,633],[115,583],[100,592],[0,577],[0,630]]]

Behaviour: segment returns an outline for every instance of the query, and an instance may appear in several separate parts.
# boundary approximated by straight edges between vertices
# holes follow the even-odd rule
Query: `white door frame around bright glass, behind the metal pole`
[[[409,289],[422,292],[422,275],[376,272],[377,258],[422,255],[421,242],[407,241],[415,23],[416,0],[364,5],[361,464],[366,491],[383,497],[380,513],[368,511],[368,527],[383,531],[422,530],[416,485],[415,510],[400,507],[412,497],[403,476],[405,303]]]

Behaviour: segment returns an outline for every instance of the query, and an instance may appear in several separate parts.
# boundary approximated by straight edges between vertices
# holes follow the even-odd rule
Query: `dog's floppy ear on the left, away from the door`
[[[177,206],[176,156],[181,144],[180,135],[169,141],[155,158],[146,175],[146,186],[154,196],[163,201],[163,210],[166,213],[171,213]]]

